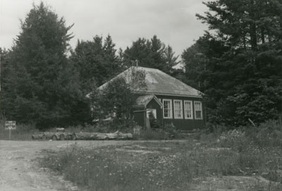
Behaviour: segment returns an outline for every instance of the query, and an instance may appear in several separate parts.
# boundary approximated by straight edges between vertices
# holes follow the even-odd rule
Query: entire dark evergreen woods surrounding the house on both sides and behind
[[[238,126],[249,118],[255,123],[277,119],[282,112],[282,1],[204,4],[209,11],[197,18],[209,30],[180,57],[157,35],[118,50],[111,35],[93,34],[68,51],[72,25],[43,3],[33,6],[13,47],[1,49],[2,117],[39,128],[91,122],[87,93],[130,66],[145,66],[202,91],[211,123]],[[185,71],[173,69],[179,63]]]

